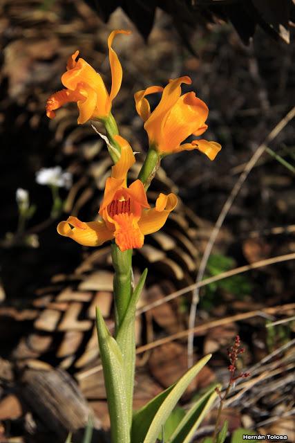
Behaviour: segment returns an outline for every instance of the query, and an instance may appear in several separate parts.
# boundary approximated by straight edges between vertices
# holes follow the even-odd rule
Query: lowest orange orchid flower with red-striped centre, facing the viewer
[[[144,235],[162,228],[177,204],[177,197],[173,193],[160,194],[155,208],[150,208],[140,180],[135,180],[127,188],[126,175],[135,162],[135,156],[124,138],[115,136],[115,140],[120,144],[121,157],[106,181],[104,199],[99,209],[102,219],[84,223],[71,216],[59,223],[57,232],[84,246],[99,246],[114,238],[120,250],[126,251],[141,248]]]

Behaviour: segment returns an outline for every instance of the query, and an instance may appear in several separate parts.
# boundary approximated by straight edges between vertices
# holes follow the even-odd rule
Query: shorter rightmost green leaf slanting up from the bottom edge
[[[221,386],[218,386],[221,387]],[[188,410],[178,427],[175,429],[173,435],[169,439],[169,443],[189,443],[193,434],[200,426],[202,419],[211,408],[213,401],[217,397],[216,385],[212,386],[205,392],[198,401]]]

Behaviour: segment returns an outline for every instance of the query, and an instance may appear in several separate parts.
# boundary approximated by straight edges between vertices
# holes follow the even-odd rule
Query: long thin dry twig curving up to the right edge
[[[283,130],[283,128],[287,125],[287,123],[289,123],[289,121],[292,120],[292,118],[294,118],[294,116],[295,116],[295,107],[293,107],[287,113],[287,115],[282,120],[280,120],[280,123],[278,123],[278,125],[276,125],[274,129],[272,129],[272,132],[268,134],[268,136],[265,138],[265,141],[258,147],[256,152],[254,152],[253,156],[251,156],[251,159],[245,166],[244,171],[242,172],[242,174],[240,174],[240,177],[236,182],[233,190],[231,191],[231,194],[229,195],[227,201],[225,202],[225,205],[223,206],[221,213],[216,221],[216,224],[212,230],[212,233],[209,237],[207,246],[202,256],[202,260],[200,262],[200,267],[196,279],[197,283],[201,282],[202,279],[204,278],[204,272],[206,270],[207,262],[209,260],[209,256],[211,254],[213,245],[216,241],[216,238],[223,224],[223,221],[225,221],[225,217],[227,217],[227,214],[229,213],[229,210],[234,202],[234,199],[236,198],[238,192],[240,192],[240,189],[242,188],[242,184],[247,179],[249,172],[251,172],[252,168],[254,167],[258,159],[260,159],[260,156],[262,156],[263,152],[265,152],[265,150],[267,149],[267,144],[272,142],[274,138],[276,138],[276,136]],[[196,289],[194,289],[193,291],[193,299],[191,301],[191,310],[189,313],[189,329],[193,328],[193,326],[196,323],[196,312],[199,300],[200,300],[199,287],[196,287]],[[187,357],[188,357],[188,366],[190,368],[191,365],[193,365],[193,333],[189,334],[188,336]]]

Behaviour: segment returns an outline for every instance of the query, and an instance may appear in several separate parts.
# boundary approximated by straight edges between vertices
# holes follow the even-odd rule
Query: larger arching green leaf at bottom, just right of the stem
[[[162,424],[171,414],[178,400],[196,377],[198,372],[211,359],[211,354],[204,356],[196,365],[190,368],[176,383],[149,401],[133,416],[131,442],[155,443],[161,431]]]

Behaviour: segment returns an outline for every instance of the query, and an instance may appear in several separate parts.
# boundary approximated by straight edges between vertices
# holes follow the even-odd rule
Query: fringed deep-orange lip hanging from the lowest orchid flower
[[[117,214],[114,216],[114,221],[115,242],[122,252],[143,246],[144,235],[132,214]]]

